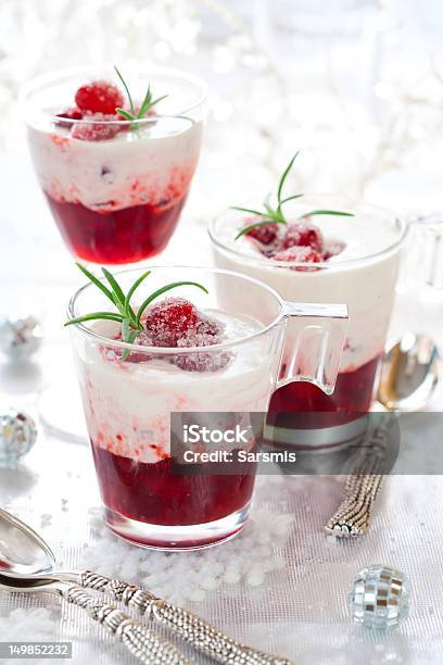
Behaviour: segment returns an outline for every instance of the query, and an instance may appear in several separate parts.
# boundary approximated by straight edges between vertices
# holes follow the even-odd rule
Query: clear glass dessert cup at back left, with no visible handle
[[[112,67],[55,72],[35,78],[21,92],[39,184],[67,248],[90,263],[137,263],[164,250],[202,142],[202,80],[168,68],[125,67],[124,74],[136,104],[148,86],[155,98],[167,96],[153,114],[131,123],[100,114],[80,120],[58,115],[73,106],[80,86],[119,84]]]

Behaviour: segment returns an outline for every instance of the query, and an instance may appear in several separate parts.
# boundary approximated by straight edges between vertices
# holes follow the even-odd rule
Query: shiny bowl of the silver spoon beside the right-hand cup
[[[406,332],[381,361],[377,400],[388,411],[418,411],[439,382],[441,357],[428,335]]]

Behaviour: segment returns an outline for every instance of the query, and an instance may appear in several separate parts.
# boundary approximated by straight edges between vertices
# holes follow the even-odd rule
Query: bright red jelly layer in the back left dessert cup
[[[96,212],[81,203],[47,199],[62,237],[78,259],[92,263],[135,263],[154,256],[169,241],[187,195],[170,206],[132,205]]]

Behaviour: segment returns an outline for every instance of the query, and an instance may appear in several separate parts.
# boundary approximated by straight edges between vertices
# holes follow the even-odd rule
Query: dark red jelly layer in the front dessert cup
[[[147,524],[187,526],[221,519],[243,509],[254,489],[255,464],[242,464],[241,473],[229,475],[208,473],[207,465],[199,473],[187,465],[197,473],[185,476],[174,473],[170,459],[144,464],[93,443],[92,454],[105,506]]]

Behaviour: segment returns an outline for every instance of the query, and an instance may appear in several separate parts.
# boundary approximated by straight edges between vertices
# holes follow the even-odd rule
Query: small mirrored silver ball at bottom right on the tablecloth
[[[409,582],[403,573],[375,564],[353,579],[347,601],[355,624],[375,630],[394,628],[409,613]]]

